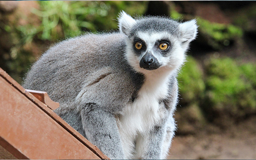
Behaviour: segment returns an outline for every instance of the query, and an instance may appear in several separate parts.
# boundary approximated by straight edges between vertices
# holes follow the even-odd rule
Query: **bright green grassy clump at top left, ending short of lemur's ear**
[[[34,36],[42,40],[57,40],[77,36],[83,29],[96,31],[90,21],[108,14],[110,6],[98,1],[39,1],[40,10],[33,9],[42,23],[39,26],[19,26],[24,42],[31,42]]]

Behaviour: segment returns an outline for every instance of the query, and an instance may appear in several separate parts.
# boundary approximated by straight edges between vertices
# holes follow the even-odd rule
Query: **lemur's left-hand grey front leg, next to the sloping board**
[[[86,104],[81,119],[87,139],[110,159],[124,159],[124,151],[116,119],[95,103]]]

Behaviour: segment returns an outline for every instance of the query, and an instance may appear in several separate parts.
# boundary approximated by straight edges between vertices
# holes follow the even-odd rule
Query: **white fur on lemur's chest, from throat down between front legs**
[[[138,92],[138,98],[128,104],[118,119],[126,158],[132,158],[137,137],[147,135],[164,117],[159,100],[168,94],[168,76],[149,75]]]

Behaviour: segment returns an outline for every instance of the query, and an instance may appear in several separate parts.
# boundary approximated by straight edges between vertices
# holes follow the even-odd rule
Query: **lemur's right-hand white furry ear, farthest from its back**
[[[196,20],[190,20],[180,24],[181,42],[191,42],[196,38],[197,34]]]

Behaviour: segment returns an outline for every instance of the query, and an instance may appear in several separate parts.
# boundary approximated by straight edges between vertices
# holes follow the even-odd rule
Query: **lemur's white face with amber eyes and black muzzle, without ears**
[[[177,38],[167,32],[148,33],[139,31],[129,38],[127,58],[136,70],[155,70],[163,66],[180,65],[185,59],[183,52],[177,53]],[[179,63],[179,64],[177,64]]]

